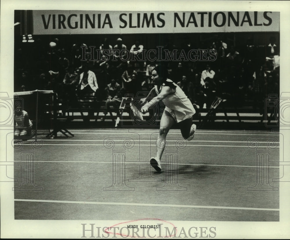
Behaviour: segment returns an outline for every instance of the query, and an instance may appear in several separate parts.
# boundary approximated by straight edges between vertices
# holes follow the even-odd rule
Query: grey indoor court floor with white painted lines
[[[272,181],[279,167],[256,167],[263,152],[279,161],[278,133],[197,130],[186,142],[172,129],[157,173],[149,160],[158,129],[69,130],[75,137],[43,137],[33,152],[33,182],[43,189],[14,191],[15,219],[279,221],[279,184]],[[268,149],[269,139],[278,147]],[[14,150],[17,179],[21,153],[31,149],[31,140],[23,143]]]

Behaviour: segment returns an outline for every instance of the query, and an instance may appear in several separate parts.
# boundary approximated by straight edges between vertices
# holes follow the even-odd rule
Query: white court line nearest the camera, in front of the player
[[[80,201],[60,201],[60,200],[35,200],[35,199],[14,199],[22,202],[42,202],[42,203],[74,203],[74,204],[94,204],[94,205],[127,205],[127,206],[148,206],[148,207],[188,207],[188,208],[218,208],[235,210],[260,210],[279,211],[276,208],[256,208],[256,207],[221,207],[221,206],[197,206],[197,205],[176,205],[176,204],[154,204],[154,203],[106,203],[106,202],[80,202]]]

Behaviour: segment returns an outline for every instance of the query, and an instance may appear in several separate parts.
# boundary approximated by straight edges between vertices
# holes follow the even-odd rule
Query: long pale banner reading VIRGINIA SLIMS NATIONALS
[[[280,12],[33,10],[33,34],[279,32]]]

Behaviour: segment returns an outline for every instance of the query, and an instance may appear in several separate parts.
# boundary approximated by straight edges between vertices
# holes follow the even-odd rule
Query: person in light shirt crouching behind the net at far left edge
[[[14,111],[14,137],[31,136],[32,122],[28,113],[21,106],[15,106]]]

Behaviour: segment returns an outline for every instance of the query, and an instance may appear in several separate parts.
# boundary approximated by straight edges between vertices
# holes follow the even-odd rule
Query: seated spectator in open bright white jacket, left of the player
[[[80,75],[78,94],[84,95],[95,95],[98,87],[97,78],[95,73],[89,70],[88,63],[82,65],[83,73]]]

